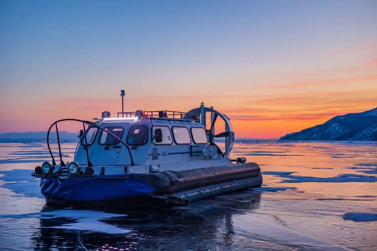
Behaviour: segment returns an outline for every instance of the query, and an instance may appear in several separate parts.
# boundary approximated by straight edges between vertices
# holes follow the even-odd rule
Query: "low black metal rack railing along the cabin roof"
[[[147,111],[148,115],[144,117],[150,117],[153,119],[175,119],[175,120],[190,120],[198,121],[199,119],[195,116],[195,113],[185,113],[181,111]],[[118,113],[119,117],[136,117],[135,111],[127,111],[123,113]],[[185,118],[185,119],[184,119]],[[190,118],[190,119],[187,119]]]

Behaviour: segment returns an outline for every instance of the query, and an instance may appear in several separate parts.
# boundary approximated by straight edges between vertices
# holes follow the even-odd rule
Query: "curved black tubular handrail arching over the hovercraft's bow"
[[[59,132],[58,132],[58,122],[62,122],[62,121],[77,121],[77,122],[82,122],[83,123],[83,127],[84,127],[84,137],[85,137],[85,147],[86,147],[86,157],[87,157],[87,162],[88,162],[88,166],[92,166],[92,163],[90,163],[90,160],[89,160],[89,154],[88,154],[88,146],[87,146],[87,139],[86,139],[86,129],[85,129],[85,124],[87,125],[91,125],[91,126],[94,126],[98,129],[100,129],[101,131],[106,131],[104,128],[98,126],[96,123],[93,123],[93,122],[90,122],[90,121],[87,121],[87,120],[80,120],[80,119],[60,119],[60,120],[57,120],[55,121],[54,123],[52,123],[52,125],[50,126],[50,128],[48,129],[48,132],[47,132],[47,147],[48,147],[48,150],[50,152],[50,155],[51,155],[51,158],[52,158],[52,165],[56,165],[56,162],[55,162],[55,158],[54,158],[54,155],[52,154],[52,151],[51,151],[51,148],[50,148],[50,141],[49,141],[49,135],[50,135],[50,131],[51,131],[51,128],[56,125],[56,132],[57,132],[57,138],[58,138],[58,146],[59,146],[59,157],[60,157],[60,161],[61,161],[61,166],[66,166],[61,158],[61,150],[60,150],[60,140],[59,140]],[[114,138],[118,139],[124,146],[126,146],[127,150],[128,150],[128,153],[130,155],[130,158],[131,158],[131,166],[135,166],[134,162],[133,162],[133,158],[132,158],[132,154],[131,154],[131,151],[130,151],[130,148],[129,146],[127,146],[126,143],[124,143],[123,140],[121,140],[120,138],[118,138],[118,136],[115,136],[114,134],[112,134],[111,132],[109,131],[106,131],[106,133],[112,135]]]

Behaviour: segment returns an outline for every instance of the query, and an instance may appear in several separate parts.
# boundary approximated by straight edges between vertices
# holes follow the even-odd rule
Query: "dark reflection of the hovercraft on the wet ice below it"
[[[217,249],[234,244],[232,217],[247,214],[261,206],[260,192],[238,192],[232,195],[199,201],[189,207],[164,210],[101,210],[104,213],[126,214],[124,217],[103,219],[101,222],[120,229],[132,230],[126,234],[106,234],[98,231],[79,232],[54,228],[75,223],[66,217],[41,217],[40,228],[32,235],[35,250],[88,249]],[[42,212],[56,210],[45,205]],[[75,218],[72,211],[72,218]],[[99,229],[100,230],[100,229]]]

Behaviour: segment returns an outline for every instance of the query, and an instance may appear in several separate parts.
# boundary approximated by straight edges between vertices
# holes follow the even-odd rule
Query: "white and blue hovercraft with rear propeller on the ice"
[[[74,161],[64,162],[58,123],[81,123]],[[59,160],[49,142],[56,128]],[[35,168],[46,202],[63,207],[172,207],[257,187],[261,169],[229,157],[234,143],[230,119],[201,103],[178,111],[105,111],[95,122],[62,119],[47,134],[52,163]],[[60,161],[60,163],[57,163]]]

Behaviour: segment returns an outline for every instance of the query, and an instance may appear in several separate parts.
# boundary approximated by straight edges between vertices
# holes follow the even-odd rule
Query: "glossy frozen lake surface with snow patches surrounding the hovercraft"
[[[63,143],[65,161],[76,144]],[[56,149],[55,149],[56,151]],[[44,143],[0,143],[1,250],[376,250],[377,142],[244,141],[261,188],[164,210],[45,205]]]

